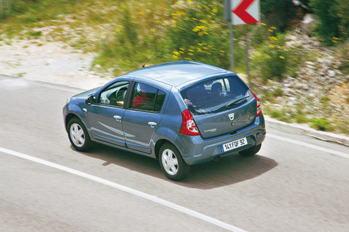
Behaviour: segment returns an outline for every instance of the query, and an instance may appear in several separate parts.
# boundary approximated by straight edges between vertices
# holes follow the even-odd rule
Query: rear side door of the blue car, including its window
[[[129,108],[124,113],[126,146],[151,153],[151,141],[160,124],[166,93],[147,84],[135,83]]]

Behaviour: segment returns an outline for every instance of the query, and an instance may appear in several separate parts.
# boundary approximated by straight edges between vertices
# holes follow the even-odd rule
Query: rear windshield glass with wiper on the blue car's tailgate
[[[250,91],[237,76],[215,77],[181,91],[189,111],[194,115],[213,114],[242,105]]]

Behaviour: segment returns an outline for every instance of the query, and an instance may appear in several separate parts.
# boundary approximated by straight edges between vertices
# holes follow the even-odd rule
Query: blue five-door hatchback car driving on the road
[[[63,114],[76,150],[101,143],[154,157],[171,180],[193,164],[254,155],[265,139],[260,101],[242,79],[191,61],[128,72],[69,98]]]

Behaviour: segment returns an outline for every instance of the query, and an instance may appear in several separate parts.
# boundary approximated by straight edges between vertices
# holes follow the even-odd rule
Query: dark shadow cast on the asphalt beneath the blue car
[[[104,160],[105,163],[103,163],[103,166],[115,164],[132,171],[138,171],[149,176],[167,180],[177,185],[203,190],[249,180],[278,166],[275,160],[258,154],[252,157],[233,154],[221,158],[219,162],[212,161],[191,166],[191,171],[186,178],[179,181],[172,181],[163,174],[158,160],[151,157],[102,144],[96,144],[95,148],[89,151],[89,153],[82,154]]]

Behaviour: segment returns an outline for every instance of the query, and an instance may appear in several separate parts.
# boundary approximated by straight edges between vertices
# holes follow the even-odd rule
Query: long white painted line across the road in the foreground
[[[117,183],[114,183],[114,182],[109,181],[109,180],[105,180],[103,178],[99,178],[97,176],[92,176],[92,175],[90,175],[88,173],[84,173],[82,171],[77,171],[75,169],[70,169],[70,168],[65,167],[63,165],[60,165],[60,164],[55,164],[55,163],[49,162],[47,160],[42,160],[42,159],[39,159],[37,157],[26,155],[24,153],[19,153],[19,152],[15,151],[15,150],[9,150],[9,149],[0,147],[0,152],[1,153],[6,153],[8,155],[14,155],[14,156],[17,156],[17,157],[21,157],[21,158],[26,159],[26,160],[31,160],[31,161],[39,163],[39,164],[44,164],[44,165],[52,167],[54,169],[59,169],[61,171],[66,171],[68,173],[72,173],[72,174],[74,174],[76,176],[81,176],[81,177],[87,178],[89,180],[94,180],[94,181],[96,181],[98,183],[101,183],[103,185],[114,187],[117,190],[128,192],[128,193],[133,194],[135,196],[140,196],[140,197],[142,197],[144,199],[147,199],[149,201],[154,201],[154,202],[159,203],[159,204],[161,204],[163,206],[167,206],[168,208],[172,208],[174,210],[178,210],[179,212],[184,212],[187,215],[191,215],[193,217],[197,217],[198,219],[202,219],[202,220],[204,220],[206,222],[209,222],[211,224],[214,224],[216,226],[220,226],[221,228],[227,229],[228,231],[246,232],[243,229],[239,229],[239,228],[237,228],[235,226],[232,226],[230,224],[227,224],[225,222],[221,222],[218,219],[214,219],[213,217],[209,217],[207,215],[203,215],[200,212],[196,212],[194,210],[185,208],[183,206],[179,206],[179,205],[177,205],[175,203],[172,203],[170,201],[166,201],[166,200],[160,199],[160,198],[158,198],[156,196],[152,196],[152,195],[146,194],[144,192],[140,192],[138,190],[134,190],[131,187],[126,187],[124,185],[119,185]]]

